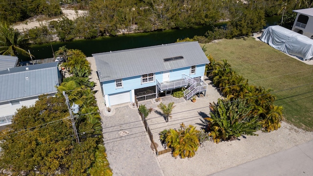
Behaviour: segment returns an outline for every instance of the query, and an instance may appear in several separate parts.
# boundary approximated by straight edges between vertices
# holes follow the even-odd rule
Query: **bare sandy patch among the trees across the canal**
[[[84,10],[68,10],[68,9],[64,9],[61,8],[64,17],[67,17],[69,20],[73,20],[79,16],[83,16],[84,14],[88,13],[88,11],[84,11]],[[51,19],[48,21],[40,21],[40,19],[32,19],[32,20],[26,20],[25,22],[19,22],[17,24],[13,25],[13,28],[18,29],[19,31],[22,31],[23,29],[31,29],[34,28],[36,26],[40,26],[41,24],[43,25],[47,25],[48,22],[50,21],[58,21],[61,20],[61,18],[55,18],[55,19]]]

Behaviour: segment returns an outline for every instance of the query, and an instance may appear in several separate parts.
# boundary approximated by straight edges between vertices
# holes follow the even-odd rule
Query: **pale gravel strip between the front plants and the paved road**
[[[305,132],[286,122],[282,122],[277,131],[257,134],[219,144],[207,141],[189,160],[175,159],[170,153],[159,155],[157,159],[165,176],[207,176],[313,140],[313,132]]]

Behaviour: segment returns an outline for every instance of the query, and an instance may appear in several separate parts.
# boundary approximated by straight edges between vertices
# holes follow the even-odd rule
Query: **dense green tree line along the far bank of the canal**
[[[209,39],[250,35],[265,26],[265,16],[280,14],[282,24],[294,21],[294,9],[308,8],[313,0],[0,0],[0,21],[11,24],[36,15],[60,16],[60,4],[86,9],[86,16],[62,18],[23,33],[32,43],[51,40],[91,39],[127,32],[149,32],[170,28],[214,25],[228,21],[228,29],[215,29]],[[19,3],[19,4],[17,4]],[[215,36],[215,37],[214,37]]]

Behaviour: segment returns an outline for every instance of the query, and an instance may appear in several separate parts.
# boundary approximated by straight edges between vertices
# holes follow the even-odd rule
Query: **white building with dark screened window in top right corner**
[[[313,8],[293,10],[297,17],[292,26],[292,31],[313,39]]]

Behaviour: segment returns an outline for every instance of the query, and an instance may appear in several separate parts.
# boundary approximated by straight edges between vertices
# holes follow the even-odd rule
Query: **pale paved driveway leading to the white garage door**
[[[164,176],[138,110],[126,105],[112,111],[102,122],[113,176]]]

